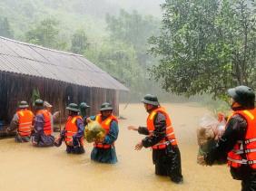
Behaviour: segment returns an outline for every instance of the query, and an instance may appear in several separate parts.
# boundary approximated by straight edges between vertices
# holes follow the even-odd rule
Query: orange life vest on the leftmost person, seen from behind
[[[16,112],[19,118],[18,133],[21,136],[30,136],[34,114],[31,110],[19,110]]]

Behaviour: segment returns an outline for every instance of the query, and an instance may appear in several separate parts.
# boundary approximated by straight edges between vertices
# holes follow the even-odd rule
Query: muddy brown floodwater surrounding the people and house
[[[135,151],[143,136],[126,129],[145,125],[143,104],[120,105],[120,135],[116,142],[118,164],[103,165],[90,160],[92,144],[86,144],[81,156],[67,155],[61,148],[33,148],[17,144],[14,138],[0,140],[0,190],[240,190],[239,181],[231,179],[227,166],[201,167],[196,164],[198,120],[209,112],[193,103],[162,104],[170,113],[182,152],[184,183],[174,185],[168,177],[154,175],[150,149]]]

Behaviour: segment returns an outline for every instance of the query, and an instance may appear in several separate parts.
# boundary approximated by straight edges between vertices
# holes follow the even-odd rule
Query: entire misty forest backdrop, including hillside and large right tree
[[[131,90],[208,94],[256,88],[252,0],[2,0],[0,35],[83,54]]]

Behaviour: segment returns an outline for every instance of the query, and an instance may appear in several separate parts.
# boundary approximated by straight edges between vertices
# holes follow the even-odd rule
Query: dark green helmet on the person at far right
[[[241,106],[254,106],[255,93],[247,86],[237,86],[228,90],[228,94],[233,100],[240,103]]]

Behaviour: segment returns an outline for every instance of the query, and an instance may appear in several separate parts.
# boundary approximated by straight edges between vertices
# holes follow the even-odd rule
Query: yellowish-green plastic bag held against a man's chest
[[[105,129],[97,121],[89,122],[85,126],[84,138],[87,142],[102,142],[105,137]]]

